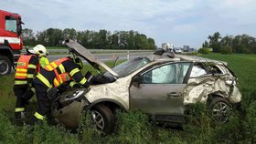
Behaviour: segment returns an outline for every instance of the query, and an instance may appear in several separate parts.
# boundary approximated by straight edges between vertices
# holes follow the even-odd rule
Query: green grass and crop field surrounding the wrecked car
[[[140,111],[117,111],[114,133],[101,136],[92,129],[89,118],[83,118],[76,131],[50,124],[34,128],[16,126],[13,93],[14,74],[0,77],[0,144],[1,143],[256,143],[256,55],[208,54],[228,62],[239,78],[242,93],[241,110],[225,125],[216,126],[208,118],[207,108],[198,104],[191,109],[187,123],[180,127],[156,125]],[[112,66],[112,62],[108,63]],[[85,69],[91,69],[86,67]],[[85,72],[84,70],[83,72]],[[94,73],[96,73],[94,71]],[[35,107],[37,99],[30,101]]]

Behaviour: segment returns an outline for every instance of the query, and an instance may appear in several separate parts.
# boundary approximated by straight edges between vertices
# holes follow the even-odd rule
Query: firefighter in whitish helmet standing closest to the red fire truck
[[[37,45],[28,50],[26,55],[21,55],[17,61],[14,93],[16,95],[15,118],[17,121],[24,120],[25,106],[33,97],[35,88],[32,86],[33,78],[40,69],[38,58],[46,56],[45,46]]]

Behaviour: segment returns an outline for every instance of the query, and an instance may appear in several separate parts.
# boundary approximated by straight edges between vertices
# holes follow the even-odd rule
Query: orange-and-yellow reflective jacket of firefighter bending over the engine
[[[52,76],[54,75],[54,76]],[[86,78],[80,73],[80,69],[69,58],[60,58],[51,62],[46,67],[42,68],[34,81],[38,83],[38,79],[47,87],[59,87],[73,78],[81,85],[85,84]]]

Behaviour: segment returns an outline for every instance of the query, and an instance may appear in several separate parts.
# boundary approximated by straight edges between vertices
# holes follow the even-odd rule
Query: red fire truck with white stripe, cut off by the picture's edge
[[[21,16],[0,9],[0,76],[10,73],[23,48]]]

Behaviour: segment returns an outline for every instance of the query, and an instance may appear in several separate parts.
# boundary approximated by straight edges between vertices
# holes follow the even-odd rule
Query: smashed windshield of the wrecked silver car
[[[113,67],[112,70],[118,74],[119,77],[125,77],[133,71],[144,67],[146,64],[151,62],[147,57],[136,57],[128,61],[123,62],[122,64]],[[112,77],[109,72],[104,73],[105,77]]]

